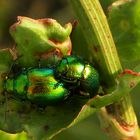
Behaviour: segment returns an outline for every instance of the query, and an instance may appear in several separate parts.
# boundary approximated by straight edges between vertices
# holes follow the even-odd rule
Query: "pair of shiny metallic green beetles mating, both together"
[[[74,90],[97,94],[99,75],[76,56],[66,56],[54,68],[27,68],[6,76],[4,90],[37,105],[53,105],[69,98]]]

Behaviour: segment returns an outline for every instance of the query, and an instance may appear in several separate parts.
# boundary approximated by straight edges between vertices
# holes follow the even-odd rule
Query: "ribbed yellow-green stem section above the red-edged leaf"
[[[93,56],[99,65],[103,81],[109,81],[106,84],[112,86],[122,67],[102,8],[97,0],[71,0],[71,3],[78,15],[88,45],[98,47],[98,52],[93,50]]]

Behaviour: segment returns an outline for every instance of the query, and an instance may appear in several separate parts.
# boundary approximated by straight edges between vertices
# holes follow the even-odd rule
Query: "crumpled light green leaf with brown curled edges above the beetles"
[[[34,20],[27,17],[18,17],[18,22],[10,28],[10,33],[16,42],[19,60],[22,66],[37,65],[37,59],[46,63],[56,63],[64,55],[71,53],[69,35],[71,23],[62,27],[54,19]],[[56,58],[54,57],[56,56]]]

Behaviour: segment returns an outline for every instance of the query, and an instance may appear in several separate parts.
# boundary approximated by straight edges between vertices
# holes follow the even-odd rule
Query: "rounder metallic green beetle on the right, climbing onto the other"
[[[55,77],[94,97],[99,89],[99,74],[92,64],[71,55],[64,57],[55,68]]]

